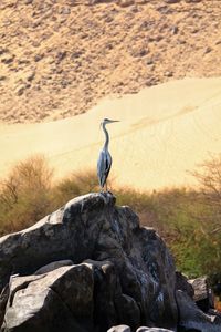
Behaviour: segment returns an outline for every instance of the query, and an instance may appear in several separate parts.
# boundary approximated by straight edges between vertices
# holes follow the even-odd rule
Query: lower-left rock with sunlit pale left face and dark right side
[[[17,277],[11,282],[7,331],[86,332],[91,331],[92,319],[93,272],[86,264]]]

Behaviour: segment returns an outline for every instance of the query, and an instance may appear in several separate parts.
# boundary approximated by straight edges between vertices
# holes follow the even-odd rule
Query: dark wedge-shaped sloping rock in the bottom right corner
[[[177,291],[177,303],[179,308],[179,325],[185,329],[196,329],[201,332],[219,332],[221,325],[214,315],[202,312],[191,298],[181,290]]]

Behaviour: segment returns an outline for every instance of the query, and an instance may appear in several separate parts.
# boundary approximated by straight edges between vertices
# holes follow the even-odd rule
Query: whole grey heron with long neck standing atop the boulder
[[[101,186],[101,191],[104,191],[104,186],[107,191],[107,177],[112,167],[112,156],[108,152],[108,144],[109,144],[109,134],[106,129],[106,125],[109,123],[119,122],[118,120],[109,120],[104,118],[101,123],[101,126],[105,134],[105,143],[103,149],[99,153],[99,157],[97,160],[97,177]]]

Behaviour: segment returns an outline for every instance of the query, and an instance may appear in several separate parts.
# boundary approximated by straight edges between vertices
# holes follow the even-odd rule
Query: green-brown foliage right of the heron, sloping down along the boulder
[[[189,278],[213,278],[219,273],[221,237],[211,218],[214,207],[208,206],[200,191],[173,188],[148,194],[119,189],[116,196],[118,204],[129,205],[139,214],[143,225],[157,229],[172,251],[178,270]]]

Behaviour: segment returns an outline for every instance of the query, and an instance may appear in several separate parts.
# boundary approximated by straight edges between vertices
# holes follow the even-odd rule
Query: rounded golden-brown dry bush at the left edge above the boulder
[[[52,169],[43,156],[20,162],[0,184],[0,231],[20,230],[50,210]]]

